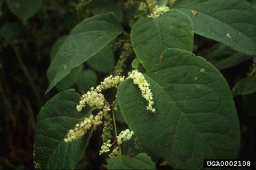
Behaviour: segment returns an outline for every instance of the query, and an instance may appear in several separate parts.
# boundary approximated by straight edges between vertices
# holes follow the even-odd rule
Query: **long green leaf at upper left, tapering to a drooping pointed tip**
[[[79,23],[63,42],[47,70],[49,87],[45,93],[120,33],[121,26],[113,13],[96,15]]]

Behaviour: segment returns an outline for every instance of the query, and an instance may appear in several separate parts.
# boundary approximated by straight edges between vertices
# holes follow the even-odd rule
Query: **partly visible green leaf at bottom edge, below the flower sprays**
[[[146,153],[139,153],[135,157],[117,156],[107,160],[107,169],[156,169]]]

